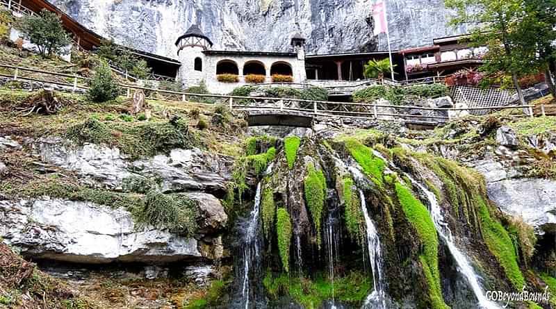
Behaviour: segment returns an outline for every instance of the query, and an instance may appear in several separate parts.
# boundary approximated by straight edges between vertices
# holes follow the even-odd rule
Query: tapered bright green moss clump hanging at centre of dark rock
[[[322,208],[325,206],[326,198],[326,179],[322,170],[316,169],[310,162],[307,165],[307,176],[304,180],[305,201],[313,217],[313,225],[317,236],[317,244],[320,248],[320,219]]]

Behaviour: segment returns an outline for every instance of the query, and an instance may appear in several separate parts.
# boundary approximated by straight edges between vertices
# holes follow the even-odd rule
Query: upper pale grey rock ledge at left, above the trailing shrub
[[[231,178],[230,158],[199,149],[174,149],[169,156],[129,162],[117,148],[96,144],[76,147],[59,138],[41,139],[35,147],[43,162],[70,169],[83,183],[118,189],[131,176],[161,177],[164,192],[197,190],[223,194]]]

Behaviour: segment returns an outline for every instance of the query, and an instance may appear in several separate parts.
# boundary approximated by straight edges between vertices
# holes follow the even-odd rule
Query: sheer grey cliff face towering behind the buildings
[[[54,4],[92,31],[116,42],[176,58],[174,42],[192,24],[213,49],[288,51],[300,32],[308,53],[386,50],[386,35],[373,36],[371,1],[55,0]],[[441,0],[388,1],[392,49],[432,44],[434,37],[464,32],[446,26]],[[377,47],[378,46],[378,47]]]

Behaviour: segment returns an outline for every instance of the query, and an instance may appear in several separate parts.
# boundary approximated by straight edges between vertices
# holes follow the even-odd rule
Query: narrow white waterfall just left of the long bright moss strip
[[[374,290],[368,295],[363,308],[386,308],[386,293],[384,292],[384,278],[382,278],[382,250],[380,239],[378,237],[377,228],[370,219],[365,201],[365,195],[359,190],[361,198],[361,210],[365,217],[367,248],[369,255],[370,268],[373,270],[373,287]]]

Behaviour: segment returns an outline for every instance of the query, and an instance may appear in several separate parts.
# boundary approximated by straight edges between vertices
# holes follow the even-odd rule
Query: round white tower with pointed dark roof
[[[210,49],[213,42],[201,31],[196,24],[189,27],[176,40],[178,60],[181,62],[179,76],[184,87],[199,85],[204,79],[205,56],[203,51]]]

